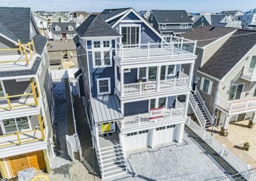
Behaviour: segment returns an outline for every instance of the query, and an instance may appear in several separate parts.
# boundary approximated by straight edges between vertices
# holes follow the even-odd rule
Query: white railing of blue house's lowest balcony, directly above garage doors
[[[176,118],[176,117],[183,117],[184,113],[185,113],[185,106],[182,105],[182,103],[180,103],[176,99],[175,108],[163,110],[163,118],[158,121],[172,120],[173,118]],[[131,116],[124,117],[124,120],[122,120],[122,128],[145,124],[148,122],[156,122],[156,120],[149,119],[149,113],[141,113],[138,115],[131,115]]]

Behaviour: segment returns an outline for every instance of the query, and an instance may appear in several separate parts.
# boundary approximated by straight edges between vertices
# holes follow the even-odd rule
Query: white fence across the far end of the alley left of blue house
[[[70,69],[52,69],[51,75],[52,80],[61,79],[61,78],[74,78],[74,73],[78,71],[78,68],[70,68]]]

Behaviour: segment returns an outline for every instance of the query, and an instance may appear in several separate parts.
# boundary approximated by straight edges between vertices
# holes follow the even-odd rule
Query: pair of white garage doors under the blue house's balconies
[[[175,125],[156,127],[154,130],[136,131],[123,135],[122,143],[124,144],[125,151],[150,147],[174,141],[176,139],[176,132]]]

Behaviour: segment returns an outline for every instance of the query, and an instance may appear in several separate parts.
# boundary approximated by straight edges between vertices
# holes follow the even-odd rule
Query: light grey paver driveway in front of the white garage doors
[[[154,149],[128,152],[127,158],[137,175],[129,180],[218,180],[227,177],[186,134],[183,143],[166,143]]]

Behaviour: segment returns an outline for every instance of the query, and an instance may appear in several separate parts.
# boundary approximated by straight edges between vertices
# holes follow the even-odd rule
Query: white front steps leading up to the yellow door
[[[116,175],[127,173],[127,161],[120,143],[97,149],[97,158],[102,178],[115,177]]]

